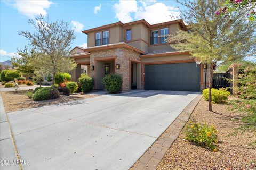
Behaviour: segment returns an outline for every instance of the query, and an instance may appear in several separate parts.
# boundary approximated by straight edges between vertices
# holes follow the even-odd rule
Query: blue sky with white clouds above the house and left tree
[[[179,17],[178,4],[172,1],[53,1],[17,0],[0,2],[0,62],[10,60],[28,41],[18,31],[34,31],[28,19],[37,14],[49,16],[51,21],[64,20],[75,29],[73,46],[87,45],[87,36],[81,32],[101,25],[126,23],[145,18],[150,24]],[[152,13],[157,15],[152,15]],[[174,18],[175,19],[175,18]]]

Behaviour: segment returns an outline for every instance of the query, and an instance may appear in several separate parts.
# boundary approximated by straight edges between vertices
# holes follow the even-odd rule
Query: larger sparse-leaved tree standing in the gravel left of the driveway
[[[50,22],[43,15],[29,19],[35,32],[20,31],[19,35],[29,40],[29,45],[36,52],[40,52],[31,64],[35,70],[44,74],[52,74],[53,84],[55,75],[61,72],[68,72],[76,67],[76,63],[69,57],[70,46],[74,39],[74,30],[69,28],[69,23],[64,21]]]

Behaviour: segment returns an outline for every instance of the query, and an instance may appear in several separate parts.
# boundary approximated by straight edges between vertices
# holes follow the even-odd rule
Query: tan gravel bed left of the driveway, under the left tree
[[[28,99],[24,92],[25,91],[18,91],[18,93],[15,93],[14,91],[1,92],[5,112],[19,111],[27,108],[66,103],[69,101],[82,100],[99,96],[92,94],[72,94],[70,96],[60,95],[60,98],[53,100],[33,101],[33,99]]]

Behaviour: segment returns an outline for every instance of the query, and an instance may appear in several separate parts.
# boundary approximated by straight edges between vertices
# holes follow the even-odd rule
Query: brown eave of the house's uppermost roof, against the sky
[[[123,23],[123,22],[119,21],[119,22],[103,25],[101,27],[96,27],[96,28],[84,30],[82,32],[87,34],[89,32],[98,31],[98,30],[102,30],[102,29],[107,29],[109,27],[114,27],[116,25],[121,25],[121,26],[125,27],[127,25],[133,25],[133,24],[137,24],[137,23],[144,23],[148,28],[159,27],[161,25],[167,25],[167,24],[172,24],[172,23],[179,23],[183,29],[186,29],[186,25],[184,24],[182,19],[157,23],[157,24],[153,24],[153,25],[150,25],[145,19],[141,19],[141,20],[138,20],[138,21],[132,21],[132,22],[128,22],[128,23]]]

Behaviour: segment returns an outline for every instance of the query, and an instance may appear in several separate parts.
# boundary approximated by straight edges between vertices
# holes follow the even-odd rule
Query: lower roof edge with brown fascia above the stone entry
[[[133,46],[130,46],[126,43],[114,43],[114,44],[107,44],[107,45],[102,45],[102,46],[94,46],[94,47],[89,47],[89,48],[86,48],[84,49],[84,52],[93,52],[93,51],[96,51],[96,50],[104,50],[104,49],[111,49],[111,48],[121,48],[121,47],[125,47],[125,48],[128,48],[128,49],[132,49],[134,50],[135,52],[138,52],[138,53],[141,53],[141,54],[146,54],[146,52],[138,49],[138,48],[135,48]]]

